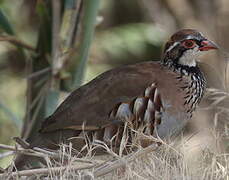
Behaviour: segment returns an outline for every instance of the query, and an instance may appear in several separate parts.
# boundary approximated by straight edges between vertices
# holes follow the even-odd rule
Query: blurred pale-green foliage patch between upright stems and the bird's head
[[[93,47],[111,64],[131,64],[158,60],[165,37],[166,33],[155,25],[130,23],[98,32]]]

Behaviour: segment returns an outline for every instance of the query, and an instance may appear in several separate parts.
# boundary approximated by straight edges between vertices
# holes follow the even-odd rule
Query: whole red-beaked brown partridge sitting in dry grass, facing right
[[[73,91],[27,141],[31,148],[47,149],[71,142],[80,151],[96,140],[118,149],[124,136],[131,146],[138,131],[161,139],[176,136],[192,119],[206,89],[198,57],[213,49],[218,46],[201,32],[181,29],[165,44],[160,61],[102,73]],[[16,158],[17,168],[29,164],[25,156]]]

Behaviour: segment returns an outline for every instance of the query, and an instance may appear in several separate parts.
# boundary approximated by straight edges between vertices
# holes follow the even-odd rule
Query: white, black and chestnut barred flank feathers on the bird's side
[[[154,128],[160,124],[160,114],[163,112],[160,92],[156,83],[145,89],[143,96],[136,97],[130,102],[119,103],[110,113],[111,120],[128,122],[134,130],[142,129],[144,133],[153,135]],[[110,125],[105,128],[104,141],[112,139],[119,132],[119,126]],[[121,126],[123,128],[123,126]],[[120,132],[122,132],[121,130]],[[119,136],[117,136],[118,138]],[[122,137],[122,136],[121,136]],[[101,140],[101,139],[100,139]],[[117,139],[116,139],[117,140]]]

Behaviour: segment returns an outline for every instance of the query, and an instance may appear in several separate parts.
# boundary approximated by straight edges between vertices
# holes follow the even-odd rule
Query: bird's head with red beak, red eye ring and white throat
[[[182,29],[171,36],[165,45],[163,63],[172,63],[195,67],[199,55],[217,45],[194,29]]]

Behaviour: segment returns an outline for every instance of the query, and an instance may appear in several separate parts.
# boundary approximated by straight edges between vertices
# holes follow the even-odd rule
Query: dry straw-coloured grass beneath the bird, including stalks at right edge
[[[225,120],[227,117],[223,117],[224,121],[221,121],[220,115],[222,113],[229,115],[227,108],[223,106],[226,103],[222,103],[228,97],[229,94],[213,89],[207,93],[207,98],[211,101],[208,109],[215,110],[212,129],[215,130],[216,141],[222,142],[224,139],[226,150],[229,137],[228,121]],[[220,132],[217,131],[219,124],[223,127],[220,128]],[[89,149],[89,153],[79,159],[73,155],[74,149],[71,145],[62,145],[58,161],[51,160],[51,156],[46,156],[48,167],[16,173],[9,171],[5,173],[4,179],[14,176],[15,179],[229,180],[229,153],[206,147],[202,149],[195,147],[201,149],[200,154],[193,154],[187,151],[187,148],[192,148],[187,146],[187,143],[194,136],[179,137],[171,143],[162,142],[160,147],[150,146],[145,149],[138,147],[135,152],[126,156],[122,155],[122,151],[115,153],[102,142],[97,142],[94,146],[85,147]],[[125,139],[121,144],[125,145]],[[93,156],[92,150],[98,146],[105,148],[109,155]],[[1,177],[3,178],[0,175]]]

